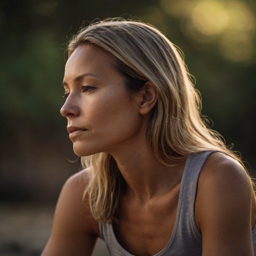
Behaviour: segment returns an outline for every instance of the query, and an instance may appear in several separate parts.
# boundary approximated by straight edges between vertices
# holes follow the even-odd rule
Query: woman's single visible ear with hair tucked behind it
[[[139,102],[139,113],[147,114],[151,111],[157,100],[157,91],[151,82],[147,81],[141,91],[140,102]]]

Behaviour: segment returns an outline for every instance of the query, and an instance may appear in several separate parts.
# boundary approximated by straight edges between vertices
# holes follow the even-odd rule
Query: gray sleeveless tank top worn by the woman
[[[201,232],[195,223],[194,201],[201,167],[212,151],[190,154],[182,173],[178,207],[172,234],[165,247],[153,256],[200,256]],[[105,241],[110,256],[134,256],[117,241],[111,223],[99,223],[100,237]],[[256,225],[252,229],[254,256],[256,256]],[[141,245],[143,246],[143,245]]]

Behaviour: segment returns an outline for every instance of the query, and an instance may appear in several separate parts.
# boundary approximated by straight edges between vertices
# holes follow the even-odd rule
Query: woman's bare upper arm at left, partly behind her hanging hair
[[[97,238],[97,224],[82,194],[85,171],[71,176],[63,185],[55,209],[50,238],[42,256],[91,255]]]

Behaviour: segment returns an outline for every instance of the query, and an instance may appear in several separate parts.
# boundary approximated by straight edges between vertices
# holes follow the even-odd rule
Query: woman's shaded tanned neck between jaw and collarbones
[[[127,194],[135,196],[140,202],[166,193],[181,180],[184,160],[166,160],[165,165],[153,154],[146,143],[130,150],[115,154],[117,166],[126,181]],[[170,166],[171,165],[171,166]]]

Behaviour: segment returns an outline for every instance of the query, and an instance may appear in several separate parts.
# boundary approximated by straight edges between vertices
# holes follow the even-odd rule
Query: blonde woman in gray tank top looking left
[[[200,118],[172,43],[138,21],[108,19],[68,45],[63,81],[74,152],[42,255],[252,256],[256,206],[240,159]]]

